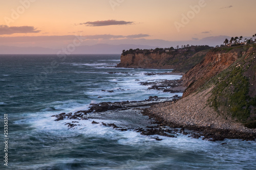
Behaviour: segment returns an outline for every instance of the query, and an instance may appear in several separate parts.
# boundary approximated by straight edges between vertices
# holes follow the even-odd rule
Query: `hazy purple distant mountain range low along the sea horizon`
[[[159,46],[150,45],[136,45],[136,44],[96,44],[96,45],[82,45],[77,46],[72,54],[120,54],[122,50],[129,50],[130,48],[140,49],[155,49]],[[57,54],[61,49],[51,49],[44,47],[16,47],[0,45],[0,54]]]

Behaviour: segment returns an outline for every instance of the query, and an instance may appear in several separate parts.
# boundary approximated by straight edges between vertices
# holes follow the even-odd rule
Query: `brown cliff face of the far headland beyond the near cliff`
[[[121,62],[117,67],[165,68],[175,69],[177,72],[186,72],[200,62],[206,53],[207,51],[179,54],[127,54],[125,56],[121,56]]]

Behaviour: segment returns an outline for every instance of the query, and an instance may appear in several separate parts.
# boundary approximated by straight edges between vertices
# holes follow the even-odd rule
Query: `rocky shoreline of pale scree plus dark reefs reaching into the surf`
[[[180,88],[183,92],[182,80],[161,80],[155,82],[140,82],[142,85],[148,85],[148,89]],[[168,91],[169,92],[169,91]],[[170,91],[173,92],[173,91]],[[176,91],[178,92],[178,91]],[[94,120],[92,124],[100,124],[106,127],[112,127],[115,130],[127,131],[133,130],[148,135],[156,140],[162,140],[152,135],[177,137],[179,134],[188,135],[192,138],[200,138],[209,141],[222,141],[228,139],[255,140],[256,130],[245,128],[242,124],[233,123],[231,120],[223,119],[215,114],[214,110],[207,106],[202,98],[207,98],[208,91],[204,91],[193,96],[181,99],[178,95],[172,98],[158,98],[150,96],[144,101],[125,101],[125,102],[103,102],[91,104],[90,109],[81,110],[75,113],[60,113],[53,115],[55,121],[72,119],[72,123],[65,123],[69,128],[80,126],[76,120],[90,120],[99,116],[99,114],[110,114],[113,112],[139,110],[138,114],[146,115],[152,121],[153,126],[144,128],[127,129],[119,127],[113,123],[98,123]],[[200,98],[199,98],[200,96]],[[136,116],[136,115],[134,115]]]

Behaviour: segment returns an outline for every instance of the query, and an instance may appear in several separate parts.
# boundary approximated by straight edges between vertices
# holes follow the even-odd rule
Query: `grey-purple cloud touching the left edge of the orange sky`
[[[8,27],[5,25],[0,26],[0,35],[15,34],[15,33],[39,33],[40,30],[36,30],[34,27],[22,26],[22,27]]]

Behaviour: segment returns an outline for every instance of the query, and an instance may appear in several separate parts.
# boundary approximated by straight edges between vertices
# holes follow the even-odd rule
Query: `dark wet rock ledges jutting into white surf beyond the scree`
[[[141,114],[144,108],[148,108],[152,105],[156,105],[159,103],[165,103],[168,101],[175,102],[179,100],[180,97],[178,95],[173,96],[172,98],[158,98],[158,96],[150,96],[145,101],[126,101],[126,102],[103,102],[99,104],[92,104],[90,106],[90,109],[88,110],[80,110],[75,113],[60,113],[57,115],[53,115],[52,117],[56,117],[55,121],[63,121],[65,120],[73,120],[71,123],[64,123],[69,128],[74,128],[76,126],[81,126],[77,120],[91,120],[91,119],[99,119],[102,115],[108,115],[108,114],[123,114],[122,111],[131,112],[132,114]],[[133,115],[134,118],[136,118],[136,115]],[[153,135],[159,135],[159,136],[166,136],[166,137],[177,137],[180,133],[181,134],[190,134],[189,137],[195,137],[199,138],[200,136],[196,133],[187,133],[185,132],[184,128],[170,128],[167,126],[163,126],[160,122],[157,122],[155,119],[150,119],[150,126],[146,127],[133,127],[133,128],[127,128],[127,127],[121,127],[114,123],[104,123],[104,119],[102,119],[103,122],[99,123],[95,120],[91,120],[92,124],[99,124],[101,126],[110,127],[115,130],[119,131],[127,131],[132,130],[135,132],[140,133],[141,135],[147,135],[150,136],[156,140],[162,140],[161,138]]]

